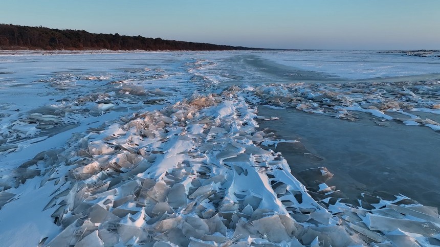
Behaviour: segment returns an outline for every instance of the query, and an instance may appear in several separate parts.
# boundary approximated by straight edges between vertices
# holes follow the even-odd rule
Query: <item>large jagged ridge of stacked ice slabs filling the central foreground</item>
[[[17,169],[53,188],[46,246],[410,246],[440,243],[436,209],[404,197],[315,200],[258,131],[249,89],[194,94],[161,110],[75,134]],[[269,118],[270,119],[270,118]],[[23,175],[26,174],[26,175]],[[2,187],[0,206],[19,195]]]

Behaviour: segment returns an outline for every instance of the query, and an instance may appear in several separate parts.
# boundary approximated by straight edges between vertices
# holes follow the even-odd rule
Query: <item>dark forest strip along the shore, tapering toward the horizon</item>
[[[0,24],[0,50],[144,50],[225,51],[266,50],[142,36],[95,34],[84,30]]]

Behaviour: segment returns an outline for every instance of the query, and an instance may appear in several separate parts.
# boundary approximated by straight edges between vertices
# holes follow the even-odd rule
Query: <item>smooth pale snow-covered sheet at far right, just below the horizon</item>
[[[438,57],[404,56],[380,51],[285,51],[262,57],[302,70],[347,79],[371,79],[438,73]]]

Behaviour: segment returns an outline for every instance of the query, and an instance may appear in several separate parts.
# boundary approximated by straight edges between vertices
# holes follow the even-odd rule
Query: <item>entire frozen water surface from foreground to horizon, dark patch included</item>
[[[243,235],[257,239],[249,244],[295,237],[307,245],[318,236],[341,245],[322,235],[325,226],[344,232],[345,243],[397,235],[440,243],[431,237],[440,231],[437,55],[3,51],[0,241],[58,245],[66,229],[69,244],[220,244]],[[263,216],[278,214],[305,230],[292,235],[287,219]],[[397,218],[385,226],[381,217]],[[402,230],[402,220],[411,227]],[[281,221],[285,235],[251,234]],[[258,229],[238,227],[250,222]],[[183,234],[192,240],[171,238]]]

